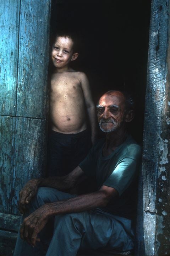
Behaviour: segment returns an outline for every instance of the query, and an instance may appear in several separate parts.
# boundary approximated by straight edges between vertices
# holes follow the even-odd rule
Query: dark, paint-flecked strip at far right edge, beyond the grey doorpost
[[[163,15],[167,15],[163,9]],[[170,8],[169,8],[170,17]],[[170,18],[169,18],[170,36]],[[158,161],[157,195],[156,195],[156,242],[157,255],[170,254],[170,42],[166,52],[166,74],[164,78],[165,92],[161,114],[161,130]]]

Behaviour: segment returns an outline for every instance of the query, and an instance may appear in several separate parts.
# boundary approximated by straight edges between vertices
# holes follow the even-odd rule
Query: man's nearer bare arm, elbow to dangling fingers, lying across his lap
[[[47,223],[49,217],[58,214],[82,212],[107,205],[111,197],[118,192],[111,187],[102,186],[99,191],[77,196],[65,201],[47,203],[24,219],[20,229],[21,238],[35,246],[37,235]]]

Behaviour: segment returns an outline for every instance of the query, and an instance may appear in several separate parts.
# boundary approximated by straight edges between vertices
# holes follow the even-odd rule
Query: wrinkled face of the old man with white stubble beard
[[[97,106],[97,117],[103,132],[118,130],[125,122],[125,97],[121,92],[104,94]]]

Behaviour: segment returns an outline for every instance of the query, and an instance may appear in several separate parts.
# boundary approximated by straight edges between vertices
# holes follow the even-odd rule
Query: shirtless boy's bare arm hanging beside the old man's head
[[[97,139],[97,118],[96,118],[95,105],[92,100],[89,81],[87,76],[84,73],[81,73],[81,85],[82,85],[84,100],[86,103],[87,113],[88,113],[88,117],[91,125],[92,144],[94,144],[95,140]]]

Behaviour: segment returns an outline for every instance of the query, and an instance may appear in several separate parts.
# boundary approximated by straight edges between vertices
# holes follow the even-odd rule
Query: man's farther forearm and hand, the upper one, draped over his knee
[[[20,191],[18,202],[20,213],[26,213],[26,205],[29,204],[31,199],[35,196],[39,187],[51,187],[66,191],[82,182],[85,178],[84,172],[77,166],[70,174],[63,177],[40,178],[28,181]]]

